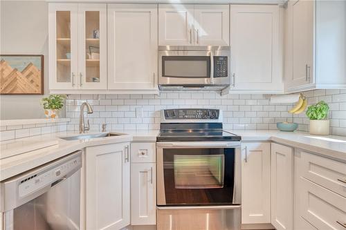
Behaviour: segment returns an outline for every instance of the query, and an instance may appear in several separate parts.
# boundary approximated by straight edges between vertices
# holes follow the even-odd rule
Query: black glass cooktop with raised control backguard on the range
[[[241,137],[223,131],[222,111],[206,108],[168,109],[161,112],[158,142],[234,142]]]

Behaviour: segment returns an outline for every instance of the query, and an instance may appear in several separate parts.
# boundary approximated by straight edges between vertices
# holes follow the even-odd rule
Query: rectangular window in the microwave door
[[[163,77],[210,78],[209,56],[163,56]]]

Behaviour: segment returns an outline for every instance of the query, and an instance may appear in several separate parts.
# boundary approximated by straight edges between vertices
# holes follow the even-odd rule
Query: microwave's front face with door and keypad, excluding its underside
[[[229,50],[160,50],[158,55],[159,85],[230,84]]]

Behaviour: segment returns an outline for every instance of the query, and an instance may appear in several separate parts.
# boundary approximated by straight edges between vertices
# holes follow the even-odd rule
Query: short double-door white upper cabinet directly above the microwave
[[[229,46],[228,5],[158,5],[159,46]]]

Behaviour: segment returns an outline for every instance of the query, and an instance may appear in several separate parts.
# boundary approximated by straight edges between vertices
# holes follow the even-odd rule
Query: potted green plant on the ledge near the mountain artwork
[[[64,106],[64,95],[49,95],[41,100],[41,104],[44,107],[44,114],[47,118],[58,117],[60,109]]]

